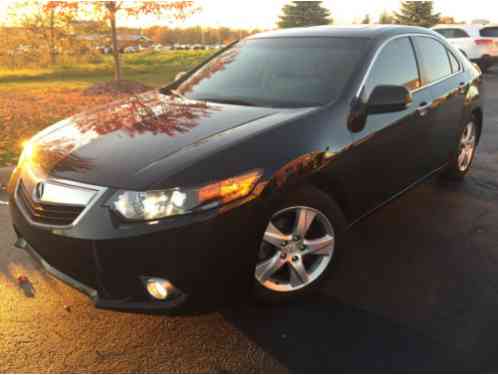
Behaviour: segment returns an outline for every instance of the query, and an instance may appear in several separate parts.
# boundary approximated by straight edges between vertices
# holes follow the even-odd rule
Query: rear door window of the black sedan
[[[432,38],[415,38],[424,67],[425,83],[435,82],[451,75],[450,59],[446,47]]]

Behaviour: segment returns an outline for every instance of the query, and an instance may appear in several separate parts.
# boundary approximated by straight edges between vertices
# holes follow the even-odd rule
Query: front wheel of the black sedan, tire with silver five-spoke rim
[[[311,218],[309,229],[304,231],[305,235],[302,238],[299,236],[292,238],[292,233],[302,233],[297,231],[297,217]],[[306,220],[301,221],[303,222]],[[288,303],[315,294],[338,263],[341,241],[346,228],[346,221],[340,208],[327,194],[307,186],[277,203],[271,217],[268,218],[268,223],[254,272],[256,300],[266,304]],[[273,229],[270,225],[273,225]],[[301,229],[303,227],[306,227],[306,224],[300,226]],[[274,236],[275,233],[278,236]],[[287,236],[287,247],[282,247],[285,244],[282,243],[284,241],[280,242],[281,234]],[[329,237],[332,237],[332,240],[331,244],[327,245]],[[269,243],[268,238],[273,243],[277,242],[278,246]],[[312,248],[314,246],[318,248],[319,243],[323,248],[315,254]],[[323,255],[326,253],[329,255]],[[286,258],[283,259],[283,256]],[[299,261],[296,261],[297,257]],[[266,274],[268,266],[277,261],[278,271]],[[302,270],[301,265],[306,272],[309,271],[308,283],[304,281],[306,278],[298,276],[299,273],[294,271]],[[298,285],[298,282],[302,285]]]

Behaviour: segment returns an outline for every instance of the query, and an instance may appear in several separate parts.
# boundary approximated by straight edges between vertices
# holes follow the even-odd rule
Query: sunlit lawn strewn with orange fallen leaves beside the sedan
[[[208,55],[206,51],[123,55],[123,78],[161,87]],[[22,142],[41,129],[91,106],[115,100],[114,96],[81,94],[85,88],[112,77],[111,56],[93,64],[0,68],[0,167],[15,163]]]

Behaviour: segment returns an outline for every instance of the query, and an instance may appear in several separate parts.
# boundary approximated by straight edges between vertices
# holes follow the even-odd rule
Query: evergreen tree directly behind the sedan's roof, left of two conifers
[[[282,8],[278,27],[286,29],[331,23],[330,11],[322,6],[321,1],[293,1]]]

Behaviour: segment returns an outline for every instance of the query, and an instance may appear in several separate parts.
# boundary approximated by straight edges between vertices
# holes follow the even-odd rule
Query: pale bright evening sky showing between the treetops
[[[0,0],[0,22],[6,21],[8,6],[17,0]],[[227,26],[233,28],[275,27],[282,6],[287,0],[197,0],[202,11],[190,17],[179,26]],[[399,0],[325,0],[323,5],[329,8],[338,24],[361,21],[369,14],[373,21],[384,11],[399,9]],[[470,22],[474,19],[490,19],[498,23],[497,0],[434,0],[435,9],[446,16]],[[154,24],[172,25],[155,16],[123,19],[120,26],[146,27]]]

